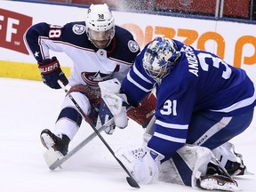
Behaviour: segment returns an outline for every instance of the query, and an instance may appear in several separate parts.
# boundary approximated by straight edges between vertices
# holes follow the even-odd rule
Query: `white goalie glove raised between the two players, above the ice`
[[[128,124],[125,107],[128,106],[128,102],[125,94],[119,93],[121,87],[120,82],[117,79],[110,79],[108,81],[100,82],[99,86],[101,98],[104,100],[109,111],[114,116],[116,126],[124,129]]]

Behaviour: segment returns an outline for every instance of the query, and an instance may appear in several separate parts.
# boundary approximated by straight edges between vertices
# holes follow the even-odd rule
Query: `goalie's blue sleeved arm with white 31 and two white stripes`
[[[163,155],[163,161],[186,143],[197,98],[193,81],[177,81],[178,84],[168,84],[168,90],[158,90],[155,132],[148,140],[148,148]]]

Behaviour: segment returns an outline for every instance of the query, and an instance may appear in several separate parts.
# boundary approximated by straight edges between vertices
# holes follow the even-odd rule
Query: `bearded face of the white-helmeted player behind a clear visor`
[[[93,44],[100,49],[107,47],[115,33],[113,28],[110,28],[107,31],[94,31],[89,28],[88,32]]]

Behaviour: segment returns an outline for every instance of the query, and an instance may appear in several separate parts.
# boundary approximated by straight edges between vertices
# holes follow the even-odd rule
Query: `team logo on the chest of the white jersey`
[[[98,86],[99,82],[107,81],[113,76],[111,74],[103,74],[99,72],[83,72],[81,77],[83,78],[86,84],[90,84],[92,86]]]

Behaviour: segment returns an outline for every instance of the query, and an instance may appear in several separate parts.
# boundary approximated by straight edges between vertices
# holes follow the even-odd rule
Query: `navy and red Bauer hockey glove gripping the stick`
[[[62,72],[59,60],[56,57],[42,60],[42,62],[38,62],[38,65],[44,84],[52,89],[60,89],[59,79],[64,85],[68,84],[68,79]]]

